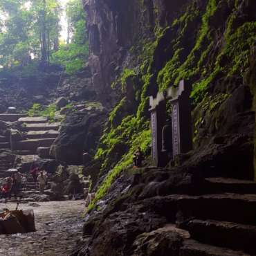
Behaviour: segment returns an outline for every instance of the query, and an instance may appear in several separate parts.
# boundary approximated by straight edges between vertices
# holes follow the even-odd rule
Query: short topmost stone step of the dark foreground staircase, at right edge
[[[243,181],[227,178],[208,178],[205,179],[205,181],[205,191],[209,194],[256,194],[256,183],[253,181]]]

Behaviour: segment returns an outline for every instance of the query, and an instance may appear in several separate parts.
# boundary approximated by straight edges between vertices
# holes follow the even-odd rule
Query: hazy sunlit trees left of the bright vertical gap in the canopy
[[[60,35],[58,0],[0,2],[0,64],[26,66],[32,58],[49,61]]]

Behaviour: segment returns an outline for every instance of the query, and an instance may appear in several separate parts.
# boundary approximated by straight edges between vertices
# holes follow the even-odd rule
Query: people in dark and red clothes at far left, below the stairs
[[[6,178],[6,181],[3,183],[0,191],[0,198],[7,199],[12,196],[15,196],[17,199],[17,195],[22,188],[22,178],[23,174],[20,172],[15,172],[11,176]]]

